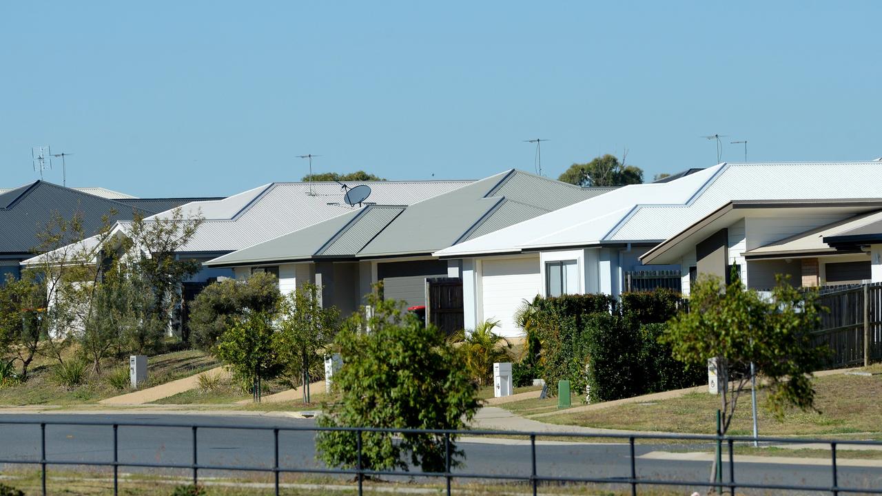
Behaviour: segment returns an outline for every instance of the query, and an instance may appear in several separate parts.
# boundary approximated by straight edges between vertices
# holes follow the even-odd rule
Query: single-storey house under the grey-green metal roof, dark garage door
[[[205,265],[232,267],[240,279],[271,271],[283,292],[316,283],[323,303],[344,314],[379,281],[384,297],[424,305],[427,279],[459,278],[461,271],[460,260],[438,260],[432,252],[609,191],[512,169],[409,206],[368,205]]]

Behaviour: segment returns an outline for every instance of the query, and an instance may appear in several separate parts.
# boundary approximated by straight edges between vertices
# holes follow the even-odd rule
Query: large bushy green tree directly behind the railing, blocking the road
[[[340,400],[318,417],[324,427],[461,429],[475,416],[475,383],[463,354],[433,326],[423,326],[393,300],[371,295],[372,316],[362,312],[347,321],[335,340],[343,358],[334,373]],[[370,332],[365,333],[365,327]],[[316,446],[328,466],[352,468],[358,462],[355,432],[318,432]],[[445,470],[445,439],[436,434],[362,432],[362,467],[423,471]],[[452,466],[463,453],[451,436]]]

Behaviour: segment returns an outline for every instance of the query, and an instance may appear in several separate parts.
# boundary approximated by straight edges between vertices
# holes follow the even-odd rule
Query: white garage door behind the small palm
[[[539,257],[485,260],[482,274],[483,318],[499,320],[497,334],[523,334],[512,322],[512,316],[522,301],[533,301],[542,291]]]

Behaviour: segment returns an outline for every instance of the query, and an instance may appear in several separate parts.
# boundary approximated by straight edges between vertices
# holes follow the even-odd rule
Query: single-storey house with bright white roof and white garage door
[[[871,211],[873,200],[882,198],[880,172],[882,162],[721,163],[669,182],[624,186],[435,255],[463,259],[467,327],[484,319],[510,318],[522,300],[536,294],[617,296],[634,282],[669,286],[671,279],[676,289],[688,292],[691,267],[697,266],[699,257],[696,246],[706,237],[718,238],[702,244],[702,249],[726,244],[725,258],[731,265],[745,250]],[[654,256],[662,251],[658,244],[671,243],[672,237],[710,214],[727,205],[741,210],[758,200],[765,205],[776,201],[793,205],[774,213],[766,208],[766,220],[727,217],[728,225],[702,231],[706,237],[690,238],[676,249],[677,256],[674,252]],[[840,204],[818,204],[815,212],[806,214],[803,203],[822,201]],[[768,229],[763,227],[766,224]],[[770,234],[747,247],[746,233],[753,232],[747,226]],[[717,232],[723,227],[728,231]],[[713,255],[714,260],[720,258]],[[725,267],[715,270],[722,273]]]

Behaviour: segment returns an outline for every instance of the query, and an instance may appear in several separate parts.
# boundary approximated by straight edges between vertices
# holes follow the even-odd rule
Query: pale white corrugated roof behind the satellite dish
[[[349,187],[370,185],[367,201],[385,205],[410,205],[471,183],[344,182]],[[343,194],[340,184],[333,182],[272,183],[227,199],[188,203],[183,206],[184,214],[199,212],[205,221],[182,251],[233,252],[357,209],[343,201]]]

